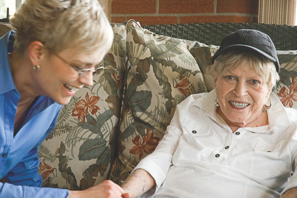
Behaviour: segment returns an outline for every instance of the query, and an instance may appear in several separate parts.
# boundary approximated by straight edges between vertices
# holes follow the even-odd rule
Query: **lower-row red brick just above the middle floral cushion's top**
[[[127,20],[129,19],[139,21],[142,26],[177,23],[176,16],[127,16]]]

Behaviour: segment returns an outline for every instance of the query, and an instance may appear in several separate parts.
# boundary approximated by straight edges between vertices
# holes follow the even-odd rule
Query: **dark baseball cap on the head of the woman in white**
[[[258,30],[241,29],[231,34],[228,34],[222,39],[220,48],[211,58],[214,60],[224,52],[231,50],[247,49],[264,56],[274,62],[276,71],[280,72],[280,63],[277,57],[275,46],[271,38]]]

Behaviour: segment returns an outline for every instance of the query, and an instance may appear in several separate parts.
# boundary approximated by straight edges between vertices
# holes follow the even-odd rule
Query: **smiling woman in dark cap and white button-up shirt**
[[[222,40],[212,62],[215,89],[177,105],[162,141],[121,186],[131,197],[149,189],[144,195],[156,198],[285,198],[295,191],[297,110],[271,93],[280,71],[273,42],[239,30]]]

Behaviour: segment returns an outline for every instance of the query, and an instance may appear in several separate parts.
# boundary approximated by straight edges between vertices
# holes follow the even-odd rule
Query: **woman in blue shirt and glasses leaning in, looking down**
[[[62,104],[83,86],[111,47],[98,0],[26,0],[0,38],[1,198],[120,198],[111,181],[85,191],[39,188],[38,147]]]

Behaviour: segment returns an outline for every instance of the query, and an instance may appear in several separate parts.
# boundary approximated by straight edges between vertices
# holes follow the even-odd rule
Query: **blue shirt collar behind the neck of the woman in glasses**
[[[12,80],[11,70],[8,61],[8,41],[10,39],[11,43],[13,44],[13,34],[13,31],[9,31],[0,38],[0,85],[5,85],[0,86],[0,94],[16,89]],[[11,51],[9,50],[9,52]]]

